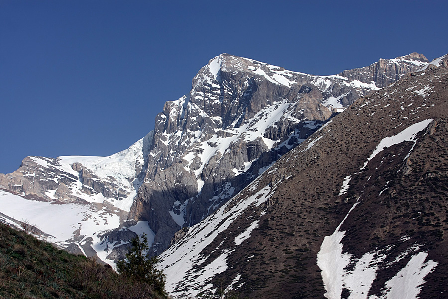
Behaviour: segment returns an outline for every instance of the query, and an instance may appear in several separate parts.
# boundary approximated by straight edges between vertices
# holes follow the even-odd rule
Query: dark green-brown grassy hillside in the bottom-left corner
[[[151,287],[0,222],[0,298],[156,299]]]

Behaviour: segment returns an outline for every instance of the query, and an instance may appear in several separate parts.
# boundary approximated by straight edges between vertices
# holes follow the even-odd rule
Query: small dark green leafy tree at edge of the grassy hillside
[[[166,295],[165,274],[156,268],[159,259],[146,256],[149,249],[146,234],[143,233],[141,240],[138,236],[132,239],[132,246],[126,254],[126,259],[116,264],[118,272],[130,279],[145,282],[151,285],[154,291]]]

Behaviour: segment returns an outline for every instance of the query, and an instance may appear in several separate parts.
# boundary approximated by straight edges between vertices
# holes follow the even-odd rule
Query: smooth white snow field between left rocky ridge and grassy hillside
[[[73,238],[83,236],[75,243],[84,253],[79,245],[89,243],[88,238],[92,237],[91,246],[98,257],[112,267],[115,266],[112,260],[106,258],[115,244],[105,242],[101,236],[119,227],[120,219],[116,212],[105,206],[97,206],[95,203],[55,204],[34,201],[0,190],[0,211],[13,219],[27,220],[29,224],[51,235],[48,241],[61,248],[73,243]],[[147,222],[139,221],[137,225],[128,229],[138,235],[146,233],[149,244],[152,244],[155,234]]]

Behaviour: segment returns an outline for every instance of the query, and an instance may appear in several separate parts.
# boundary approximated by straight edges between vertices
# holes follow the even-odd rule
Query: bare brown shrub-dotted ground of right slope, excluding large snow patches
[[[275,193],[218,234],[203,250],[208,258],[196,271],[234,250],[227,256],[227,269],[212,279],[215,286],[227,286],[241,275],[233,288],[250,298],[324,298],[317,253],[358,200],[340,228],[346,231],[341,243],[352,259],[369,252],[385,255],[368,295],[385,292],[385,282],[418,251],[438,263],[425,277],[420,298],[446,298],[447,73],[445,60],[438,68],[408,74],[359,99],[283,156],[227,209],[266,186],[275,186]],[[427,119],[433,121],[416,135],[415,144],[390,146],[363,168],[381,140]],[[339,195],[349,175],[348,192]],[[250,238],[235,246],[234,237],[258,219]],[[403,258],[393,262],[399,255]],[[349,294],[344,289],[342,298]]]

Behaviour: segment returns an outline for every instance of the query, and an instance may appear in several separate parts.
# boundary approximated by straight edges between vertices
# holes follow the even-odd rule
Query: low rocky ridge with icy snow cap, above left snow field
[[[141,184],[151,143],[152,132],[109,157],[26,157],[18,170],[0,173],[0,187],[43,201],[108,201],[126,210],[123,203]]]

